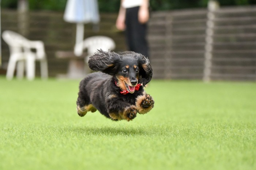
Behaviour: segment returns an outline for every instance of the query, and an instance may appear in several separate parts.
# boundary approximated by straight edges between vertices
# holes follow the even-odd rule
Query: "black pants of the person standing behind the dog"
[[[148,57],[148,44],[146,40],[147,24],[138,21],[139,7],[126,9],[126,40],[130,51],[138,52]]]

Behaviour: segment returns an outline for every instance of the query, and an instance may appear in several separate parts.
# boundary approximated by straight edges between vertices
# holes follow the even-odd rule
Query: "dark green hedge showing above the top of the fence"
[[[67,0],[28,0],[30,10],[64,11]],[[153,11],[181,8],[202,8],[208,0],[150,0]],[[101,12],[117,12],[120,0],[98,0]],[[256,0],[219,0],[221,6],[252,5]],[[16,8],[17,0],[2,0],[2,8]]]

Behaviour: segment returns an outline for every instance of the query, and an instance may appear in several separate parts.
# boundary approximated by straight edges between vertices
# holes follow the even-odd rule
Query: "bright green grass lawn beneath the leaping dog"
[[[0,77],[0,170],[256,169],[256,83],[153,80],[130,122],[79,117],[78,85]]]

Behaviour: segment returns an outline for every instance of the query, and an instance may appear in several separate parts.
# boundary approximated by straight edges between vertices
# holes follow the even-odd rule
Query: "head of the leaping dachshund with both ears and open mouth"
[[[117,86],[130,93],[134,92],[138,83],[145,86],[153,75],[149,60],[132,51],[116,53],[98,50],[90,56],[88,64],[91,70],[114,76]]]

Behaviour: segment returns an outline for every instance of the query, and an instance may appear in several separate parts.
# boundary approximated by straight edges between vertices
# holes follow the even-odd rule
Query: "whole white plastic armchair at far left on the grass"
[[[27,79],[33,80],[35,78],[36,60],[40,61],[41,78],[48,78],[48,65],[42,41],[31,41],[9,30],[4,31],[2,37],[10,50],[6,73],[7,79],[11,80],[14,77],[15,66],[17,65],[17,78],[23,78],[24,68],[26,68]]]

